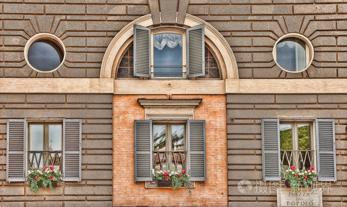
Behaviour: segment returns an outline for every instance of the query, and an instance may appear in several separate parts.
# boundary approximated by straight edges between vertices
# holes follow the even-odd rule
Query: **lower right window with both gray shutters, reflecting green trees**
[[[262,119],[262,158],[265,181],[280,181],[291,165],[336,181],[335,120]]]

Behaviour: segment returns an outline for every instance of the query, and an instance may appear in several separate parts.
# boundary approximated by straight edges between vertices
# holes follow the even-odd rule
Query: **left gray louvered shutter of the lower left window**
[[[7,182],[25,181],[25,124],[25,119],[7,119]]]

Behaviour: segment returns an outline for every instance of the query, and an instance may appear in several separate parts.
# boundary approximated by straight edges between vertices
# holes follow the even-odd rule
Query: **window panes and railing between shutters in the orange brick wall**
[[[153,122],[153,169],[186,169],[186,123]]]

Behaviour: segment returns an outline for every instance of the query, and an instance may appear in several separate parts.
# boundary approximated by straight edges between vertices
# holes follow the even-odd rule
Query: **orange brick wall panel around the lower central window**
[[[173,99],[203,99],[195,107],[194,119],[206,120],[207,182],[195,182],[190,197],[187,189],[145,188],[134,182],[134,119],[144,119],[138,98],[166,96],[114,96],[114,206],[227,206],[227,139],[225,96],[176,96]]]

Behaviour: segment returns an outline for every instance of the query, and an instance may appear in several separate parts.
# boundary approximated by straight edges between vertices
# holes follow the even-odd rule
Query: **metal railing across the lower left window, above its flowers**
[[[44,166],[59,166],[62,171],[62,151],[28,151],[28,166],[40,169]]]

